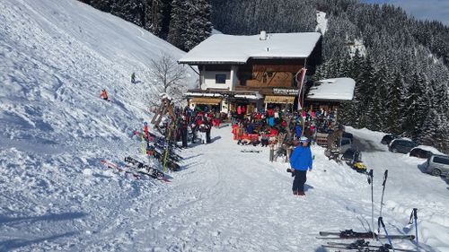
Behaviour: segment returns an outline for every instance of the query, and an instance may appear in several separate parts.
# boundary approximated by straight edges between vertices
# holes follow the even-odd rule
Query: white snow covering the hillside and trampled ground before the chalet
[[[171,183],[102,167],[101,159],[145,160],[130,137],[151,118],[145,64],[161,50],[182,52],[76,1],[0,8],[0,251],[325,251],[318,231],[369,229],[365,175],[313,146],[306,196],[292,196],[288,164],[269,162],[268,148],[237,145],[225,124],[213,128],[213,143],[180,152]],[[132,71],[141,83],[130,83]],[[102,87],[111,102],[99,98]],[[407,223],[417,207],[421,251],[449,251],[447,182],[422,172],[424,161],[388,152],[383,133],[346,129],[374,169],[374,217],[389,169],[389,233],[414,234]]]

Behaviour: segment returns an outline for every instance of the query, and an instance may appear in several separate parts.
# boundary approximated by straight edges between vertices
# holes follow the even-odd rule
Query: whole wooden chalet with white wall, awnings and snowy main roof
[[[321,33],[216,34],[178,63],[198,66],[199,87],[186,93],[191,108],[209,106],[224,113],[237,106],[248,112],[267,106],[293,109],[299,93],[295,77],[306,68],[307,80],[321,64]]]

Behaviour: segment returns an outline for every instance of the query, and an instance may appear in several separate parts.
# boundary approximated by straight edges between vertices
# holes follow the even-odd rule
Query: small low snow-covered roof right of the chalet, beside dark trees
[[[356,81],[351,78],[335,78],[314,83],[307,100],[352,100]]]

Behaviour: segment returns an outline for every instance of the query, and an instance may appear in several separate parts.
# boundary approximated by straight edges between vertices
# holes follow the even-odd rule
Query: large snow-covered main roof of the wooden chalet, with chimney
[[[235,36],[214,34],[182,56],[180,64],[245,64],[249,58],[306,58],[321,38],[319,32]]]

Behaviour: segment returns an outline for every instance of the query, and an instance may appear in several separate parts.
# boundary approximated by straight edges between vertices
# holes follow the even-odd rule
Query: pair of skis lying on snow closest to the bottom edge
[[[365,239],[357,239],[352,243],[345,242],[328,242],[327,245],[322,245],[322,248],[332,248],[338,250],[357,250],[357,251],[378,251],[378,252],[389,252],[389,251],[407,251],[415,252],[415,250],[403,249],[403,248],[392,248],[390,244],[383,244],[380,246],[370,245],[369,241]]]

